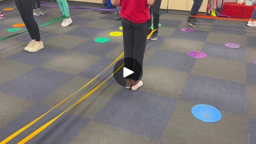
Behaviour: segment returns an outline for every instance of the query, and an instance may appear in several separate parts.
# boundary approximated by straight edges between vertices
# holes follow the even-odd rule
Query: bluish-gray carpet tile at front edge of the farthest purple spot
[[[171,38],[181,38],[181,39],[188,39],[188,40],[196,40],[196,41],[205,41],[208,36],[208,31],[194,31],[194,32],[183,32],[180,29],[176,29]]]

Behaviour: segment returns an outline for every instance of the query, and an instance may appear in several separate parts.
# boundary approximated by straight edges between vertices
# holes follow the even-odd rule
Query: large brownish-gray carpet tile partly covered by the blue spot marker
[[[161,138],[165,144],[248,144],[248,118],[221,111],[217,123],[196,119],[191,109],[195,104],[178,100]]]

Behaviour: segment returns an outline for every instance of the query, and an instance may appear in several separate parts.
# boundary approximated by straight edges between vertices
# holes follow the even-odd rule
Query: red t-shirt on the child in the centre
[[[120,0],[120,15],[134,23],[142,24],[150,19],[147,0]]]

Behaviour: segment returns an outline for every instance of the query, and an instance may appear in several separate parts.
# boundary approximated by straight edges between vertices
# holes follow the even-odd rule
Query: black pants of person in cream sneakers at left
[[[15,0],[15,4],[31,39],[40,41],[38,24],[33,16],[33,0]]]

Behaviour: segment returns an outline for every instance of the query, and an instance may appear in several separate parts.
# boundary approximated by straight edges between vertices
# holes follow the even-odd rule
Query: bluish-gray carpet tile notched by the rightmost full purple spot
[[[230,49],[225,47],[224,44],[208,43],[204,45],[204,49],[201,50],[208,56],[236,60],[240,62],[246,62],[246,49],[241,47],[239,49]]]

